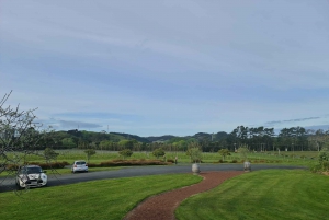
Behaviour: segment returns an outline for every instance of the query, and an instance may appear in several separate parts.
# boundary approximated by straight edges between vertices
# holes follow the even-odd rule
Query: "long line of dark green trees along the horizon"
[[[196,134],[188,137],[173,137],[166,141],[148,141],[147,138],[135,139],[137,136],[121,136],[112,132],[92,132],[84,130],[54,131],[44,146],[54,149],[95,149],[106,151],[154,151],[162,148],[166,151],[188,151],[197,142],[203,152],[217,152],[220,149],[236,151],[247,147],[251,151],[319,151],[329,144],[329,130],[306,130],[303,127],[283,128],[279,134],[274,128],[238,126],[220,138],[215,134]],[[134,137],[134,138],[133,138]],[[143,140],[143,142],[140,141]]]

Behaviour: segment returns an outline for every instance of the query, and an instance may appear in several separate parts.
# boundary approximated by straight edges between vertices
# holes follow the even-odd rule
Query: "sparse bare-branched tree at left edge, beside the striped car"
[[[0,174],[7,173],[8,178],[16,176],[20,167],[29,163],[27,154],[46,159],[37,150],[45,148],[53,134],[50,128],[45,130],[43,125],[35,123],[36,108],[21,111],[20,105],[5,106],[10,95],[11,92],[0,100]]]

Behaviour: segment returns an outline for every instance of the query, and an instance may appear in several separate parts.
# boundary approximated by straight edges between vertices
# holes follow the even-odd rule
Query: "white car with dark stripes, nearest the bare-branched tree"
[[[38,165],[22,166],[16,176],[16,185],[20,188],[46,186],[48,176]]]

